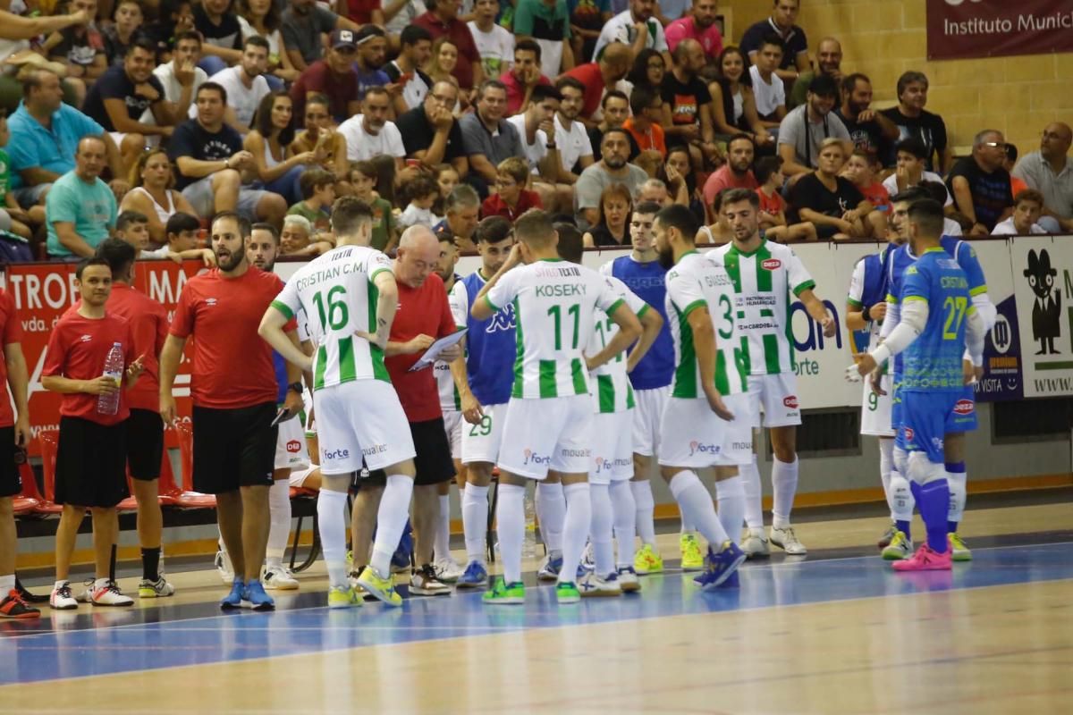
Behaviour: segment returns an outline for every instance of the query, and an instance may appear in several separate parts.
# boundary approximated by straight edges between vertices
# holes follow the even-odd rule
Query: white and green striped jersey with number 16
[[[373,279],[392,271],[392,260],[364,245],[342,245],[303,266],[273,301],[290,318],[306,313],[313,355],[313,389],[355,379],[391,382],[384,353],[355,330],[374,332],[377,299]]]

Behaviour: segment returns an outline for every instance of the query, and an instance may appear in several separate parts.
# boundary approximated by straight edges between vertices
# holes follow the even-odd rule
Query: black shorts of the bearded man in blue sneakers
[[[275,417],[275,402],[236,409],[194,405],[194,490],[223,494],[239,487],[271,487]]]

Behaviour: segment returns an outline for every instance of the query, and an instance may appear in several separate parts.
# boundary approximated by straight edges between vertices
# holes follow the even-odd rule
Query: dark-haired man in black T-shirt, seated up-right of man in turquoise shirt
[[[179,120],[172,103],[164,101],[164,86],[152,74],[156,65],[156,45],[148,38],[138,38],[123,63],[108,68],[86,95],[86,115],[113,133],[128,172],[145,149],[145,137],[171,136]],[[152,113],[156,124],[138,121],[146,109]]]

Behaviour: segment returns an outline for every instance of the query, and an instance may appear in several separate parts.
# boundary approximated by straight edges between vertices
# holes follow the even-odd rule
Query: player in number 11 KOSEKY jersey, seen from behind
[[[514,386],[498,460],[497,519],[503,578],[497,579],[484,598],[487,604],[525,599],[523,500],[527,479],[543,480],[550,471],[562,481],[567,500],[556,596],[560,604],[576,602],[580,595],[574,579],[592,517],[589,370],[636,341],[641,324],[604,277],[559,258],[558,234],[547,213],[526,212],[515,222],[514,234],[518,244],[470,308],[470,314],[480,321],[511,303],[517,319]],[[526,265],[519,266],[523,262]],[[607,313],[620,330],[604,349],[586,357],[598,311]]]

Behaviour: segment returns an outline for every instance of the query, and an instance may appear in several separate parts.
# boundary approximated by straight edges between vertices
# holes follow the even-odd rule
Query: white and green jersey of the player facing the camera
[[[737,328],[750,375],[794,372],[790,325],[793,296],[815,287],[805,264],[789,247],[761,239],[755,251],[732,242],[708,252],[725,268],[737,294]]]

